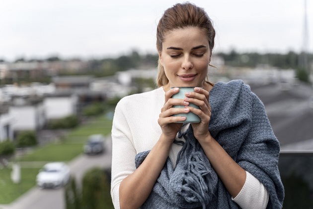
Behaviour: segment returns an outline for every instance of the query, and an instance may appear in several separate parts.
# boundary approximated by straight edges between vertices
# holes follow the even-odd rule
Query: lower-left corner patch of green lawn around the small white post
[[[21,168],[21,182],[11,181],[11,169],[0,170],[0,204],[9,204],[36,185],[39,168]]]

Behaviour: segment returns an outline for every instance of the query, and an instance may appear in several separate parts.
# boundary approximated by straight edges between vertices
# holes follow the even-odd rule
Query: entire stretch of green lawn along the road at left
[[[52,143],[42,147],[35,147],[30,154],[26,154],[14,161],[21,165],[21,182],[13,184],[10,179],[10,168],[0,169],[0,204],[9,204],[20,195],[35,186],[39,169],[47,162],[73,160],[82,154],[83,144],[87,136],[101,133],[107,136],[111,133],[112,120],[104,115],[93,118],[92,122],[73,129],[59,143]],[[25,168],[26,166],[31,168]]]

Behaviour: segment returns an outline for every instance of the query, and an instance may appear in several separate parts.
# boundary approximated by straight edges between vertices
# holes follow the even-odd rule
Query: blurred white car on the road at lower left
[[[70,177],[70,167],[66,163],[47,163],[40,169],[36,183],[40,189],[61,188],[70,181]]]

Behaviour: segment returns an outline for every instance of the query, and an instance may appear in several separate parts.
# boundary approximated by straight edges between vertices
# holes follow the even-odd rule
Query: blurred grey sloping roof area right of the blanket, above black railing
[[[281,146],[313,140],[313,108],[309,102],[312,87],[298,84],[281,91],[277,85],[269,84],[251,86],[251,90],[264,103]]]

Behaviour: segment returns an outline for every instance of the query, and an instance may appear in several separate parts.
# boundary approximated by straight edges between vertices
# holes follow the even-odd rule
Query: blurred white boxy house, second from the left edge
[[[9,115],[13,131],[39,130],[46,123],[44,104],[38,97],[13,97]]]

